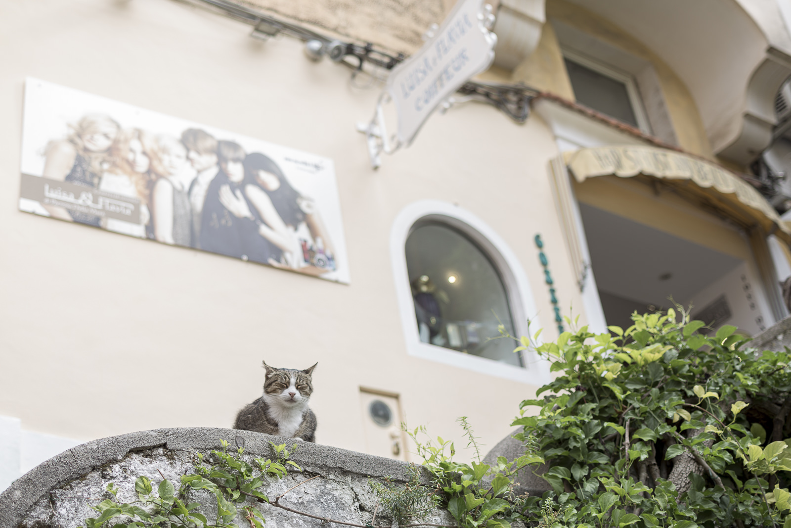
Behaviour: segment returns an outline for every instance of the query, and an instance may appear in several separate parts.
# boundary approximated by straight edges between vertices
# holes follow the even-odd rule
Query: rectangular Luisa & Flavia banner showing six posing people
[[[34,78],[19,208],[349,283],[331,159]]]

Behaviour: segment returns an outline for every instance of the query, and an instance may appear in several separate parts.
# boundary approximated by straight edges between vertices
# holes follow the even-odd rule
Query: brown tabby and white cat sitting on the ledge
[[[311,375],[316,365],[305,370],[277,369],[264,361],[267,375],[263,396],[240,410],[233,428],[315,443],[316,415],[308,407],[308,401],[313,392]]]

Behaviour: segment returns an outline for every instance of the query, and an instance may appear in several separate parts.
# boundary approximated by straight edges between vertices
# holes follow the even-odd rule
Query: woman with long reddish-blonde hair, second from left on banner
[[[109,231],[146,237],[151,214],[149,200],[152,183],[152,163],[158,165],[156,142],[149,132],[139,128],[122,131],[111,149],[112,165],[101,178],[99,188],[120,196],[140,200],[140,221],[127,222],[116,218],[104,218],[103,226]]]

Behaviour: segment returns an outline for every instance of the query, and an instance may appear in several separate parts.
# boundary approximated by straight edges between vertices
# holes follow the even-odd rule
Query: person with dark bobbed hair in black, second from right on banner
[[[200,228],[200,248],[213,253],[235,256],[244,260],[267,263],[279,257],[279,250],[259,235],[263,218],[244,196],[244,149],[232,141],[217,145],[217,176],[206,191]],[[229,198],[237,210],[225,207]],[[277,239],[277,236],[274,236]]]

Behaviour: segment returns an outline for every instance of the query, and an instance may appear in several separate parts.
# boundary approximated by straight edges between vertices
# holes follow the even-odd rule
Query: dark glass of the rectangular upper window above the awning
[[[638,127],[626,83],[564,59],[577,102]]]

